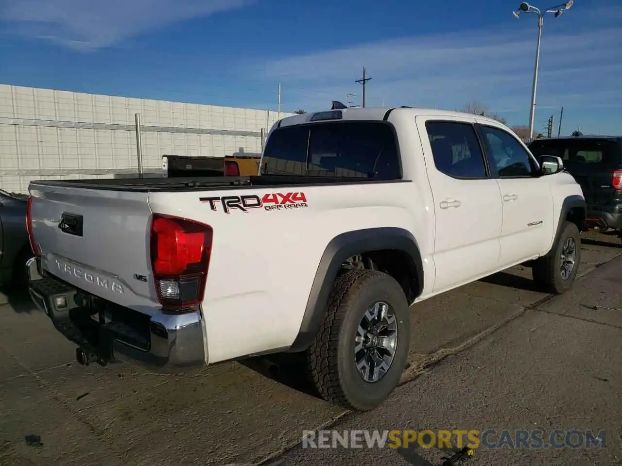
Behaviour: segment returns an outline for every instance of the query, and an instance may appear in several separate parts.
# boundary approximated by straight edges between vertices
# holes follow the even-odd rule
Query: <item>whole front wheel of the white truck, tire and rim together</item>
[[[565,221],[549,254],[534,261],[534,281],[543,291],[561,295],[570,290],[580,263],[580,232],[575,224]]]

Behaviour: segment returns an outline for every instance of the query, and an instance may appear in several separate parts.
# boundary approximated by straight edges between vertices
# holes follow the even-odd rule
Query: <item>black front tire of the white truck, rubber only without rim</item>
[[[572,238],[575,240],[575,265],[570,273],[569,278],[564,280],[560,272],[560,262],[562,250],[566,241]],[[581,263],[581,234],[575,224],[565,221],[562,224],[561,231],[555,241],[555,244],[549,251],[549,254],[534,260],[532,267],[532,276],[536,285],[542,288],[546,293],[554,295],[562,295],[570,290],[572,283],[575,281],[577,271]]]

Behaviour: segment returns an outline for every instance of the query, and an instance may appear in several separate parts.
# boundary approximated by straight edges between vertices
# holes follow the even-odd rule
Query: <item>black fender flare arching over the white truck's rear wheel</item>
[[[424,287],[423,262],[419,245],[411,232],[402,228],[381,227],[348,231],[337,235],[328,243],[320,258],[300,329],[289,352],[305,350],[313,342],[322,324],[328,296],[345,260],[363,252],[384,249],[400,250],[406,253],[410,272],[417,276],[418,289],[415,293],[417,296],[420,295]]]

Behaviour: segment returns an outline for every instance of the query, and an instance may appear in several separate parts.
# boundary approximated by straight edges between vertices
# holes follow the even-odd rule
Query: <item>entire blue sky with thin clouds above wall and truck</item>
[[[537,17],[518,3],[0,0],[0,83],[262,109],[281,83],[282,111],[313,111],[360,96],[366,66],[368,106],[478,101],[521,125]],[[536,130],[561,106],[562,134],[622,134],[622,1],[545,17]]]

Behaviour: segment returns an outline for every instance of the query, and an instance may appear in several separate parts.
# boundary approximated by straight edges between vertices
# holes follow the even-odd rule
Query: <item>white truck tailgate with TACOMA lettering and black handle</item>
[[[32,231],[42,267],[77,288],[153,314],[147,192],[31,183]]]

